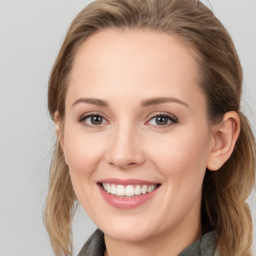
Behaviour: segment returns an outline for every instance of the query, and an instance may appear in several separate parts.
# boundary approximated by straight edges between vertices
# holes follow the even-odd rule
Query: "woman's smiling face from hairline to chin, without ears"
[[[163,33],[108,29],[75,55],[61,142],[79,202],[110,237],[199,230],[214,138],[191,53]]]

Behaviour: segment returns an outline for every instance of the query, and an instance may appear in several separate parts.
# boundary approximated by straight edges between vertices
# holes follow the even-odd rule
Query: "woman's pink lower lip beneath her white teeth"
[[[159,186],[157,186],[153,191],[146,194],[140,194],[140,195],[134,195],[131,197],[117,197],[115,195],[112,195],[111,193],[107,193],[99,184],[99,191],[105,201],[109,203],[111,206],[114,206],[116,208],[122,208],[122,209],[131,209],[138,207],[139,205],[143,204],[144,202],[148,201],[149,199],[154,196],[156,191],[158,190]]]

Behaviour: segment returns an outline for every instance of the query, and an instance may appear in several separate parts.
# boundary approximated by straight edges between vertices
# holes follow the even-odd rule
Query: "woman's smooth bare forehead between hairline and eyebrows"
[[[98,98],[111,93],[115,99],[135,99],[138,92],[144,97],[169,93],[182,100],[199,92],[194,54],[177,37],[165,33],[106,29],[79,46],[67,92],[72,88],[77,97],[84,93]]]

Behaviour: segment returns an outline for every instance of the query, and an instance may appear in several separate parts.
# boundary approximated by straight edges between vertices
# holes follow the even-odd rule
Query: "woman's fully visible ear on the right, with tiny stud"
[[[206,167],[219,169],[231,155],[240,132],[240,118],[235,111],[226,112],[222,121],[214,127],[214,146],[211,148]]]

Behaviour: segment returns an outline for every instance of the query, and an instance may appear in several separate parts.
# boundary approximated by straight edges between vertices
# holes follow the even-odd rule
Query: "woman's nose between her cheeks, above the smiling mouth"
[[[116,127],[107,148],[107,162],[123,170],[141,165],[145,157],[140,138],[131,125]]]

